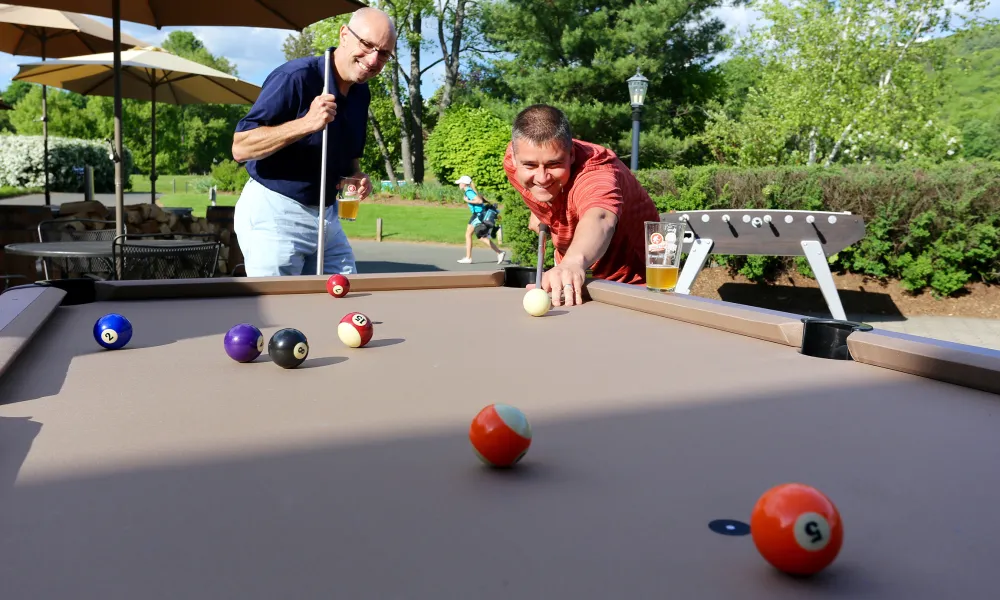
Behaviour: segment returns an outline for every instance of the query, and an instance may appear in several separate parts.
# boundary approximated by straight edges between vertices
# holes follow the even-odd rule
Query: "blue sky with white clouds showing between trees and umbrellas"
[[[726,23],[728,29],[736,34],[745,31],[747,26],[753,23],[758,15],[755,11],[745,7],[724,7],[717,9],[715,13]],[[1000,19],[1000,0],[989,0],[989,6],[984,11],[984,16]],[[110,19],[98,20],[111,24]],[[246,27],[164,27],[157,30],[145,25],[135,23],[122,23],[122,30],[139,38],[140,40],[159,45],[170,31],[174,29],[184,29],[193,31],[202,42],[215,55],[221,55],[234,62],[239,69],[240,77],[260,85],[267,74],[284,62],[281,53],[281,44],[291,33],[279,29],[254,29]],[[424,51],[423,63],[430,64],[440,58],[440,50],[436,47]],[[403,64],[409,64],[408,57],[403,54],[400,59]],[[18,64],[37,62],[34,57],[17,57],[9,54],[0,54],[0,90],[10,84],[10,79],[17,74]],[[432,68],[425,76],[423,82],[424,96],[428,97],[434,93],[442,82],[443,68],[441,64]]]

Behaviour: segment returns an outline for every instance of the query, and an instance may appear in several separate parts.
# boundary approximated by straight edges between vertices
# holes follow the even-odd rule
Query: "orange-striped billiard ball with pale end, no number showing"
[[[479,411],[469,428],[472,448],[487,465],[512,467],[531,446],[531,425],[524,413],[509,404],[490,404]]]

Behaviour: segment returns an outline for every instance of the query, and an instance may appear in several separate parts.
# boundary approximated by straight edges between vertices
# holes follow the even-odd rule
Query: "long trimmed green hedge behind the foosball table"
[[[637,176],[660,212],[770,208],[860,215],[865,238],[830,257],[834,272],[899,280],[910,291],[938,296],[960,293],[970,282],[995,283],[1000,276],[1000,163],[704,166]],[[504,239],[512,260],[534,265],[537,238],[527,230],[527,217],[519,199],[506,202]],[[801,257],[713,259],[758,282],[793,268],[811,275]]]

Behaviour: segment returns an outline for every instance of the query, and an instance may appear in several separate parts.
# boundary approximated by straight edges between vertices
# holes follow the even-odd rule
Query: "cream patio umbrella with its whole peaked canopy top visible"
[[[114,53],[20,65],[14,81],[30,81],[84,96],[114,96]],[[150,203],[156,201],[156,103],[253,104],[260,86],[149,46],[121,53],[121,97],[153,103]]]

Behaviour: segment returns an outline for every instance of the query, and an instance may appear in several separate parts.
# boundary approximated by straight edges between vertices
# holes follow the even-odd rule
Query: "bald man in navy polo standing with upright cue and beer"
[[[330,53],[330,93],[323,94],[324,57],[291,60],[264,80],[260,96],[236,126],[233,158],[250,180],[236,203],[234,231],[249,277],[316,274],[320,163],[327,145],[326,236],[323,272],[357,271],[354,251],[337,218],[344,177],[361,172],[371,94],[368,80],[393,57],[396,30],[384,12],[361,8],[340,28]]]

